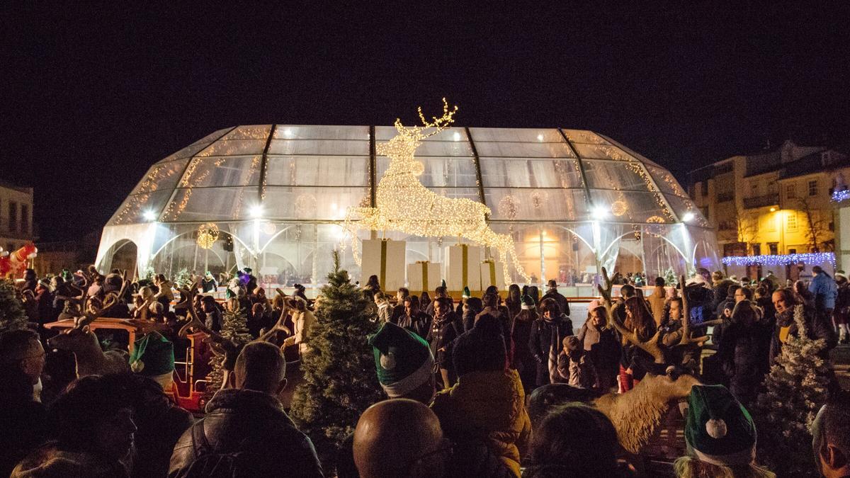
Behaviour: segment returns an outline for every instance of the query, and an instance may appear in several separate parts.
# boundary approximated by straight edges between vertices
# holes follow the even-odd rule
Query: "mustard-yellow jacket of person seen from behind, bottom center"
[[[451,441],[484,441],[519,476],[531,436],[524,403],[519,373],[509,369],[462,375],[453,387],[434,395],[431,409]]]

